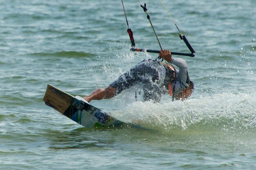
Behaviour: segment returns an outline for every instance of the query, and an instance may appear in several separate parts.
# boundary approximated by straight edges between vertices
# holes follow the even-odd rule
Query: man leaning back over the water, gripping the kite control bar
[[[173,58],[169,50],[160,51],[159,57],[166,60],[164,63],[153,60],[144,60],[122,74],[107,88],[97,88],[90,95],[84,97],[87,102],[92,100],[110,99],[135,84],[142,84],[144,100],[159,102],[162,94],[169,94],[173,99],[184,100],[193,90],[194,84],[189,79],[189,72],[185,60]],[[179,68],[177,71],[171,64]]]

